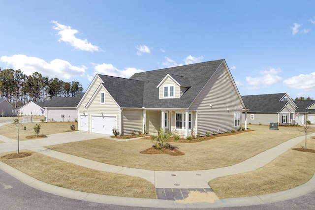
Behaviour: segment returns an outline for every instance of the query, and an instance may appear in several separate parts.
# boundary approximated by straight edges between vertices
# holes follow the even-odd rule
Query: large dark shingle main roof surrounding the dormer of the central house
[[[136,73],[130,79],[144,82],[143,106],[146,108],[188,108],[224,60],[214,60],[172,68]],[[167,75],[190,88],[181,98],[158,99],[158,84]],[[175,79],[175,78],[174,78]],[[189,83],[189,84],[188,84]]]

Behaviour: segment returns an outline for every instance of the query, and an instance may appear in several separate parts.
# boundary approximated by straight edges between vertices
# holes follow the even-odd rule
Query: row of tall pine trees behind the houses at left
[[[83,88],[79,82],[63,82],[49,79],[34,72],[27,76],[20,69],[0,68],[0,98],[9,101],[15,108],[29,101],[44,102],[53,96],[75,97]]]

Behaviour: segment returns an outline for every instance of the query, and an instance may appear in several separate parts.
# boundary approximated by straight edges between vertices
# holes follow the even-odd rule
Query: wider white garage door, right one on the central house
[[[113,134],[116,116],[92,116],[91,127],[93,133]]]

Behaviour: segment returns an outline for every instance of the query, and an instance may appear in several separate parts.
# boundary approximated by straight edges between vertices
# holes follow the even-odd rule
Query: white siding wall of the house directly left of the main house
[[[67,122],[67,121],[76,121],[78,120],[78,110],[75,108],[49,108],[45,109],[47,113],[47,121],[55,121],[55,122]],[[62,118],[61,116],[64,116]]]

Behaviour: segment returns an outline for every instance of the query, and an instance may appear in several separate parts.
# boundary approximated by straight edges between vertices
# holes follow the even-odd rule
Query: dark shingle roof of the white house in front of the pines
[[[83,94],[77,94],[77,97],[56,97],[53,96],[53,98],[50,101],[45,101],[44,107],[76,107]]]

